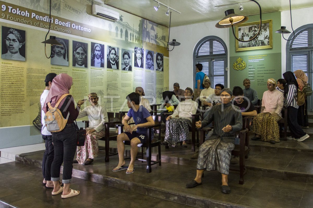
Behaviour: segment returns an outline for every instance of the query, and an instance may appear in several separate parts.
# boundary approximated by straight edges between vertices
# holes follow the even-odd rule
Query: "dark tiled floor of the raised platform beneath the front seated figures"
[[[183,148],[175,149],[179,150]],[[31,153],[27,157],[40,160],[41,155],[42,151]],[[257,156],[258,155],[255,155],[254,157]],[[273,160],[276,156],[273,155],[270,158]],[[290,160],[292,159],[290,158]],[[196,167],[193,161],[191,161],[190,164],[185,165],[163,162],[162,166],[153,166],[152,172],[149,174],[145,172],[146,164],[136,161],[136,171],[130,175],[125,174],[125,171],[112,172],[111,170],[116,166],[117,162],[117,156],[112,156],[110,157],[110,162],[105,163],[104,152],[101,151],[100,155],[95,158],[92,165],[81,166],[79,164],[74,164],[74,169],[79,172],[90,172],[110,178],[129,181],[130,183],[142,184],[143,186],[154,187],[155,189],[165,189],[169,192],[181,193],[188,196],[200,196],[212,200],[222,201],[224,203],[233,203],[242,206],[257,208],[312,207],[312,183],[246,175],[244,177],[244,185],[239,185],[238,173],[231,171],[228,183],[232,191],[230,194],[225,195],[220,191],[221,176],[217,171],[205,171],[203,185],[192,189],[187,189],[185,187],[185,184],[191,181],[196,173]],[[40,178],[40,169],[38,169],[38,172],[39,173],[36,174]],[[38,183],[40,182],[39,179],[36,180]],[[131,190],[131,188],[132,187],[130,185],[128,189]]]

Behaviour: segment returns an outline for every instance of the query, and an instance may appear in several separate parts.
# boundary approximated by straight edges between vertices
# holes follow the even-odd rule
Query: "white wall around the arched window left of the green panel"
[[[193,78],[193,50],[203,37],[217,36],[221,38],[229,50],[229,32],[228,28],[219,29],[215,27],[217,21],[203,22],[179,27],[171,27],[170,41],[176,39],[181,43],[180,46],[169,52],[169,90],[173,90],[173,83],[178,82],[180,88],[191,87],[194,89]],[[169,46],[170,50],[172,46]],[[229,68],[229,56],[228,56]],[[228,71],[229,86],[229,71]]]

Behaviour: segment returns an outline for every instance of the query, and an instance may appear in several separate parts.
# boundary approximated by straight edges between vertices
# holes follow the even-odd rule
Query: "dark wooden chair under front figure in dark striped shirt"
[[[200,145],[203,144],[205,135],[208,131],[212,131],[212,128],[206,127],[198,129],[200,131]],[[248,129],[243,128],[241,131],[237,131],[235,135],[239,136],[239,144],[235,144],[235,148],[232,151],[233,156],[239,156],[239,184],[244,184],[244,175],[247,170],[245,168],[245,158],[247,158],[250,148],[246,145],[246,138],[248,138]],[[238,169],[229,168],[232,171],[238,171]]]

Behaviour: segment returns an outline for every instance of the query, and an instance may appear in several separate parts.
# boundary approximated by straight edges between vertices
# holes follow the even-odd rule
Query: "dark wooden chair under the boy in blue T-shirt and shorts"
[[[155,165],[155,164],[159,164],[159,166],[161,166],[161,116],[160,115],[153,115],[152,116],[154,122],[155,122],[155,125],[154,126],[148,126],[148,127],[145,127],[146,129],[146,134],[148,136],[148,138],[146,138],[146,143],[144,144],[138,144],[137,146],[138,147],[141,147],[141,158],[136,158],[137,160],[140,160],[140,161],[146,161],[147,162],[147,173],[151,173],[151,166],[152,165]],[[131,123],[131,124],[134,124],[134,123]],[[119,130],[119,134],[123,133],[123,124],[118,124],[118,130]],[[156,129],[156,127],[158,127]],[[154,131],[152,131],[152,128],[154,128]],[[154,132],[159,132],[159,135],[158,135],[158,139],[153,139],[151,141],[151,136],[152,134],[154,134]],[[130,141],[124,141],[124,144],[125,145],[131,145],[131,142]],[[151,148],[152,147],[158,147],[158,159],[156,161],[151,161]],[[146,148],[146,159],[144,159],[143,157],[143,148]],[[125,159],[129,159],[130,157],[128,158],[125,158]]]

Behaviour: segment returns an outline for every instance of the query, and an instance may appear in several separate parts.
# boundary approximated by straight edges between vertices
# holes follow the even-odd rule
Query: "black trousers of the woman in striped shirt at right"
[[[287,122],[291,136],[298,139],[306,134],[298,124],[297,120],[298,109],[292,106],[288,106],[287,109],[288,109]]]

